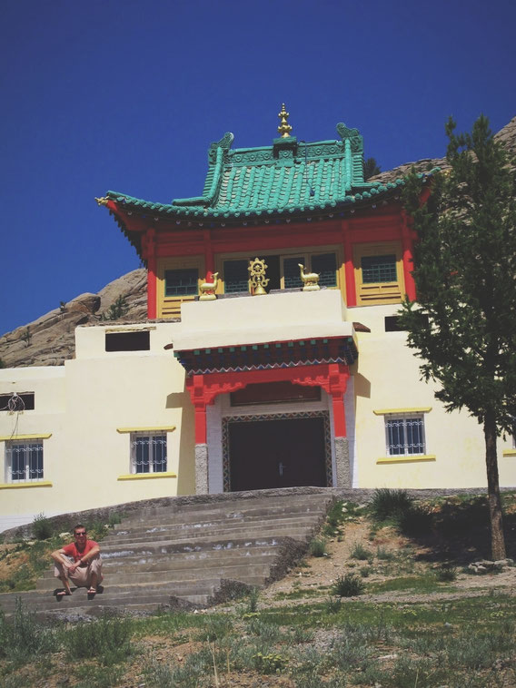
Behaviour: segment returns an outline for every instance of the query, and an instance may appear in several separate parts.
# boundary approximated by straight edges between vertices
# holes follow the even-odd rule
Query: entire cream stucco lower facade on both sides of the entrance
[[[384,318],[395,314],[397,306],[346,312],[339,291],[321,290],[193,302],[183,308],[180,323],[80,327],[76,358],[65,366],[0,370],[0,394],[35,392],[35,410],[0,413],[0,437],[45,437],[43,481],[16,487],[7,484],[5,439],[0,440],[0,530],[30,522],[40,513],[52,516],[193,494],[193,406],[184,369],[173,350],[164,349],[170,343],[174,349],[188,349],[353,336],[359,359],[345,395],[353,487],[485,486],[481,427],[465,412],[445,413],[432,385],[420,380],[418,360],[406,348],[405,334],[385,332]],[[355,334],[352,321],[371,332]],[[106,352],[106,331],[124,329],[149,329],[150,350]],[[213,443],[219,441],[220,419],[228,413],[224,403],[221,398],[208,412],[212,490],[222,486],[222,473],[216,474],[222,471],[220,447]],[[384,416],[374,411],[401,408],[432,408],[424,414],[428,457],[378,463],[386,457]],[[258,411],[270,409],[254,408]],[[118,430],[129,428],[174,428],[167,433],[168,475],[127,479],[130,433]],[[511,438],[499,441],[499,467],[501,485],[516,486]]]

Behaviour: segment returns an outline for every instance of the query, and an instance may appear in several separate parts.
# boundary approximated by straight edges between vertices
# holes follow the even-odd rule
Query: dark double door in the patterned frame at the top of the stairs
[[[323,418],[229,424],[231,490],[326,487]]]

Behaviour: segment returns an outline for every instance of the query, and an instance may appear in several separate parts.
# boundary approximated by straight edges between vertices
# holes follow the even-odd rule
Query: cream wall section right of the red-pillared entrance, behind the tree
[[[484,487],[482,428],[465,410],[446,413],[433,396],[435,385],[420,379],[421,361],[406,346],[406,333],[385,331],[385,316],[395,315],[398,308],[391,305],[348,310],[349,319],[371,329],[357,333],[359,359],[352,369],[356,399],[354,485]],[[422,411],[426,438],[423,457],[387,457],[385,414],[378,412],[402,409]],[[516,452],[511,447],[511,437],[499,439],[503,487],[516,486]]]

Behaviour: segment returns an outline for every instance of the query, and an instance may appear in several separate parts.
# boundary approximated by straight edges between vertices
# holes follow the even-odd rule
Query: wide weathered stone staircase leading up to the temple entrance
[[[58,601],[59,581],[49,568],[36,590],[0,595],[0,606],[10,614],[21,597],[37,613],[72,619],[217,604],[283,577],[331,502],[331,490],[315,487],[177,497],[168,506],[150,502],[102,541],[102,593],[88,596],[78,588]]]

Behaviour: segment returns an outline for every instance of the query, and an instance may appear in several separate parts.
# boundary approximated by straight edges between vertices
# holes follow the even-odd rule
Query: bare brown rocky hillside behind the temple
[[[495,136],[512,155],[516,155],[516,117]],[[372,177],[375,182],[390,182],[410,169],[425,172],[432,167],[446,167],[444,158],[425,158],[407,162],[389,172]],[[133,270],[110,282],[98,294],[81,294],[74,300],[51,310],[0,337],[0,360],[8,367],[60,366],[74,356],[74,329],[77,325],[94,324],[109,319],[112,307],[123,300],[127,310],[117,322],[142,320],[146,317],[145,270]]]

